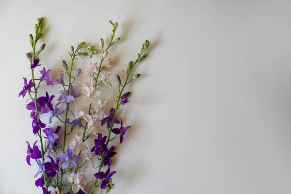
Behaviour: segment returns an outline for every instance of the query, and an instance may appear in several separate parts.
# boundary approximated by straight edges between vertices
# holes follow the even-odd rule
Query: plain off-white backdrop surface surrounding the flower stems
[[[290,7],[289,0],[0,0],[0,194],[42,193],[37,166],[25,161],[25,141],[36,138],[27,97],[18,97],[31,76],[25,53],[40,16],[41,64],[53,81],[75,42],[99,48],[110,19],[121,37],[110,50],[112,82],[151,41],[118,115],[132,128],[114,157],[112,194],[290,193]],[[115,84],[109,94],[107,113]]]

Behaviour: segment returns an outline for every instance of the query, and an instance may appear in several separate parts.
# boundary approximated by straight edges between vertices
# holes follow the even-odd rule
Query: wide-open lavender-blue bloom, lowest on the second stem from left
[[[77,169],[77,163],[81,161],[81,157],[73,154],[73,150],[70,147],[67,149],[67,154],[59,153],[57,158],[62,162],[63,169],[69,167],[69,164]]]

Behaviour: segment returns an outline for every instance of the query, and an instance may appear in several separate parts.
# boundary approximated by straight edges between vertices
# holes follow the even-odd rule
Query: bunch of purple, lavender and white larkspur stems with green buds
[[[117,75],[119,93],[116,106],[105,115],[107,101],[101,100],[100,88],[112,86],[109,76],[113,65],[108,58],[109,49],[120,40],[114,37],[118,24],[112,21],[110,24],[112,32],[109,44],[105,45],[103,39],[100,39],[100,50],[84,42],[77,43],[76,47],[72,46],[68,51],[71,61],[63,61],[64,70],[56,81],[50,79],[50,69],[40,64],[39,56],[46,46],[43,44],[37,49],[37,43],[42,37],[43,18],[37,19],[35,35],[29,36],[32,52],[26,55],[30,61],[32,79],[23,78],[24,86],[19,97],[29,96],[26,108],[30,111],[32,132],[37,140],[26,142],[26,162],[28,165],[32,165],[32,162],[38,165],[34,177],[35,185],[42,189],[43,194],[94,194],[97,188],[107,194],[114,187],[112,178],[116,171],[111,169],[111,163],[116,152],[110,143],[119,139],[122,144],[126,131],[131,127],[125,125],[116,115],[129,102],[130,92],[126,92],[125,87],[140,76],[132,75],[132,71],[145,60],[144,53],[149,47],[149,41],[144,42],[135,60],[126,65],[125,80],[122,81]],[[87,55],[92,58],[98,52],[101,52],[100,62],[91,62],[86,72],[87,81],[81,85],[77,81],[82,70],[74,69],[74,61]],[[55,105],[52,104],[55,95],[49,95],[48,92],[41,95],[38,92],[45,84],[61,88],[56,93],[58,97]],[[78,97],[82,98],[83,103],[87,103],[88,110],[82,110],[81,106],[72,110],[72,104]],[[50,114],[48,122],[41,120],[42,114]],[[99,128],[104,128],[107,134],[100,133]],[[72,142],[67,142],[73,131],[77,135]],[[89,144],[87,140],[90,139],[94,139],[94,145]],[[87,179],[82,172],[84,167],[92,168],[94,177]]]

